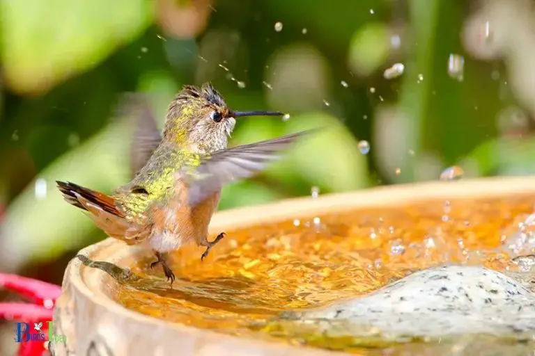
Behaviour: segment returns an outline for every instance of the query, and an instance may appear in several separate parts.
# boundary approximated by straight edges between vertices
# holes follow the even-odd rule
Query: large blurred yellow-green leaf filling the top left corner
[[[0,1],[8,86],[40,94],[100,63],[152,22],[151,0]]]

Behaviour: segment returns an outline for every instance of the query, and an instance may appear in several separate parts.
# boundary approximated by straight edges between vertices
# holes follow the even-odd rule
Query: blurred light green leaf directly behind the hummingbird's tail
[[[114,124],[39,173],[46,195],[36,197],[33,181],[13,201],[0,225],[0,270],[16,270],[25,261],[54,259],[65,250],[84,245],[95,224],[80,209],[63,201],[55,181],[72,181],[111,193],[127,181],[127,125]]]

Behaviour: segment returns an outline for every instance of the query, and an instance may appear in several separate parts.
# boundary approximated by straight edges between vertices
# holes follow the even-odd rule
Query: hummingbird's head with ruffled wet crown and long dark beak
[[[231,111],[222,95],[205,83],[201,88],[184,86],[167,111],[164,140],[196,152],[226,148],[236,118],[255,115],[284,115],[272,111]]]

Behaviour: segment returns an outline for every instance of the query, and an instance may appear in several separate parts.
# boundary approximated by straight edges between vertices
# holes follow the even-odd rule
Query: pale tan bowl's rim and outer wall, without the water
[[[508,197],[535,193],[535,177],[498,177],[371,188],[355,193],[285,200],[264,206],[217,213],[210,234],[280,223],[288,217],[325,216],[354,209],[395,209],[414,202]],[[64,334],[56,355],[334,355],[316,348],[288,346],[219,334],[169,323],[133,312],[111,298],[121,268],[132,266],[139,248],[108,238],[79,252],[63,278],[63,295],[56,304],[54,329]],[[93,266],[91,261],[99,261]],[[97,268],[95,268],[97,267]],[[112,277],[114,276],[114,277]],[[336,353],[340,355],[340,353]]]

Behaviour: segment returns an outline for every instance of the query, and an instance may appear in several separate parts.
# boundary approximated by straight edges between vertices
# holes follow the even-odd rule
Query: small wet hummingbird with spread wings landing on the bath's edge
[[[148,106],[131,151],[133,178],[111,194],[69,181],[56,181],[66,202],[88,213],[108,236],[141,245],[155,254],[171,286],[175,275],[169,252],[187,243],[210,249],[226,235],[208,241],[208,225],[217,211],[222,187],[252,177],[309,131],[227,148],[236,119],[284,115],[278,111],[232,111],[211,83],[184,86],[169,104],[160,133]],[[132,106],[133,107],[133,106]]]

